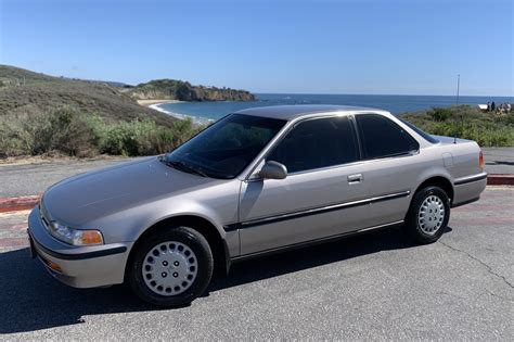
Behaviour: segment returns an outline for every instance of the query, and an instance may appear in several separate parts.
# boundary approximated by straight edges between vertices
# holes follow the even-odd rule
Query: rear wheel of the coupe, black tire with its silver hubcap
[[[414,194],[403,229],[417,243],[433,243],[450,219],[450,200],[439,187],[426,187]]]

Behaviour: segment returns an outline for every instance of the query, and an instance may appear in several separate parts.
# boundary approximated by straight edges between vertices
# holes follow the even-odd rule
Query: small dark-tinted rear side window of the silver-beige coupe
[[[356,115],[365,159],[377,159],[415,151],[420,148],[407,131],[378,114]]]

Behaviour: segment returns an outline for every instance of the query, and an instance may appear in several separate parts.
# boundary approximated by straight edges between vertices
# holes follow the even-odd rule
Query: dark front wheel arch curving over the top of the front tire
[[[189,227],[192,228],[204,236],[204,238],[209,243],[209,246],[213,251],[213,257],[215,261],[215,271],[220,271],[228,274],[230,269],[230,253],[227,245],[227,241],[220,236],[216,226],[208,219],[196,216],[196,215],[177,215],[164,218],[147,229],[145,229],[136,240],[132,248],[130,249],[127,263],[125,265],[125,278],[127,277],[128,265],[132,263],[132,259],[138,251],[139,245],[153,233],[159,229],[166,227]]]

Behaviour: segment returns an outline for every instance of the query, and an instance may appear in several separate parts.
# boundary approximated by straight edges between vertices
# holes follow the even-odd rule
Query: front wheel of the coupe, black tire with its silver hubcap
[[[144,240],[128,267],[128,282],[141,300],[179,307],[189,305],[207,289],[214,258],[198,231],[174,227]]]

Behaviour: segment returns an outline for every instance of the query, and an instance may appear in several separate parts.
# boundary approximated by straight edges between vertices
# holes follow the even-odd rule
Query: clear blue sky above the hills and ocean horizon
[[[0,63],[254,92],[513,96],[510,0],[0,0]]]

